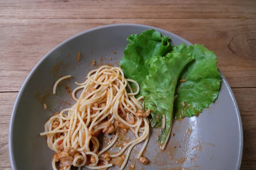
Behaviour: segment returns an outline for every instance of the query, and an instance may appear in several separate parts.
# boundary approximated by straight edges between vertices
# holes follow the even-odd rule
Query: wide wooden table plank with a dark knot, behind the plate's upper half
[[[256,19],[0,19],[0,23],[1,92],[19,91],[36,63],[68,37],[112,23],[151,25],[204,44],[215,51],[218,68],[232,88],[256,87]]]

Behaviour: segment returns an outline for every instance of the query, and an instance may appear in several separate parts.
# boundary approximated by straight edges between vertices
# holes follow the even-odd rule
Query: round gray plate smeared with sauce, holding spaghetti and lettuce
[[[68,94],[75,81],[83,82],[89,70],[102,64],[117,65],[128,44],[126,38],[154,27],[117,24],[93,28],[77,34],[50,51],[31,71],[17,96],[9,130],[9,150],[14,170],[50,170],[52,151],[47,147],[44,123],[55,111],[73,105]],[[154,28],[172,39],[173,45],[190,42],[159,28]],[[50,40],[49,40],[50,41]],[[77,62],[78,51],[81,61]],[[116,54],[115,54],[116,52]],[[105,55],[106,54],[106,55]],[[109,59],[109,58],[112,58]],[[97,66],[93,67],[92,61]],[[55,69],[53,69],[55,68]],[[57,95],[52,95],[53,83],[58,75],[71,74],[61,82]],[[159,129],[151,131],[149,144],[144,152],[150,163],[142,165],[135,159],[140,146],[131,154],[126,169],[131,164],[136,169],[198,169],[238,170],[241,164],[243,135],[239,109],[226,79],[221,75],[218,99],[198,117],[174,122],[166,150],[160,151],[156,141]],[[44,110],[43,104],[48,107]],[[112,167],[110,169],[118,169]]]

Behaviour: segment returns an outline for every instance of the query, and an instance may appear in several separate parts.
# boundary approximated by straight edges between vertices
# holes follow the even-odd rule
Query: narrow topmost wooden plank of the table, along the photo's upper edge
[[[244,10],[246,8],[246,10]],[[1,0],[3,18],[256,18],[253,0]]]

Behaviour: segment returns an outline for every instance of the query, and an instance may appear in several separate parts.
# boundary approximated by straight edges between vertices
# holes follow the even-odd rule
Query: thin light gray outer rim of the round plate
[[[13,106],[13,110],[12,110],[12,115],[11,115],[11,119],[10,119],[10,124],[9,124],[9,137],[8,137],[8,147],[9,147],[9,158],[10,158],[10,164],[13,170],[17,170],[17,166],[14,160],[14,150],[13,150],[13,130],[14,130],[14,120],[15,120],[15,116],[16,116],[16,111],[17,111],[17,106],[19,104],[20,101],[20,97],[23,94],[23,91],[27,85],[27,83],[29,82],[29,80],[31,79],[32,75],[35,73],[35,70],[39,67],[39,65],[41,65],[41,63],[56,49],[58,49],[59,47],[61,47],[62,45],[64,45],[65,43],[69,42],[70,40],[73,40],[76,37],[79,37],[82,34],[87,34],[91,31],[95,31],[98,29],[104,29],[104,28],[111,28],[111,27],[116,27],[116,26],[137,26],[137,27],[143,27],[145,29],[154,29],[156,31],[159,31],[160,33],[166,33],[166,34],[172,34],[173,37],[177,37],[181,40],[183,40],[184,42],[186,42],[186,44],[192,45],[192,43],[190,43],[189,41],[185,40],[184,38],[173,34],[172,32],[163,30],[161,28],[157,28],[157,27],[153,27],[153,26],[147,26],[147,25],[142,25],[142,24],[110,24],[110,25],[105,25],[105,26],[99,26],[99,27],[95,27],[95,28],[90,28],[86,31],[82,31],[78,34],[73,35],[72,37],[69,37],[68,39],[64,40],[63,42],[61,42],[60,44],[58,44],[57,46],[55,46],[54,48],[52,48],[52,50],[50,50],[46,55],[44,55],[44,57],[35,65],[35,67],[30,71],[29,75],[26,77],[25,81],[23,82],[23,85],[20,88],[20,91],[17,94],[17,97],[15,99],[15,103]],[[241,115],[239,112],[239,108],[235,99],[235,96],[233,94],[232,89],[230,88],[230,85],[227,82],[227,79],[224,77],[224,75],[221,73],[220,70],[218,70],[221,74],[221,78],[222,78],[222,83],[224,83],[227,86],[227,90],[229,91],[229,93],[231,94],[231,99],[233,100],[233,104],[236,108],[236,116],[238,119],[238,125],[239,125],[239,156],[238,156],[238,160],[236,163],[236,170],[239,170],[241,167],[241,160],[242,160],[242,153],[243,153],[243,129],[242,129],[242,122],[241,122]]]

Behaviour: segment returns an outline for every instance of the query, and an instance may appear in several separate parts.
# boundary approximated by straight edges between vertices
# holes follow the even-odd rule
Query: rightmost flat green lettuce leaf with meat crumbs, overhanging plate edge
[[[213,51],[204,45],[178,45],[171,53],[192,54],[195,59],[180,73],[177,82],[177,98],[174,102],[175,118],[198,115],[217,99],[221,84],[221,75],[216,63],[217,57]],[[186,82],[180,80],[186,79]],[[186,106],[182,106],[182,102]]]

